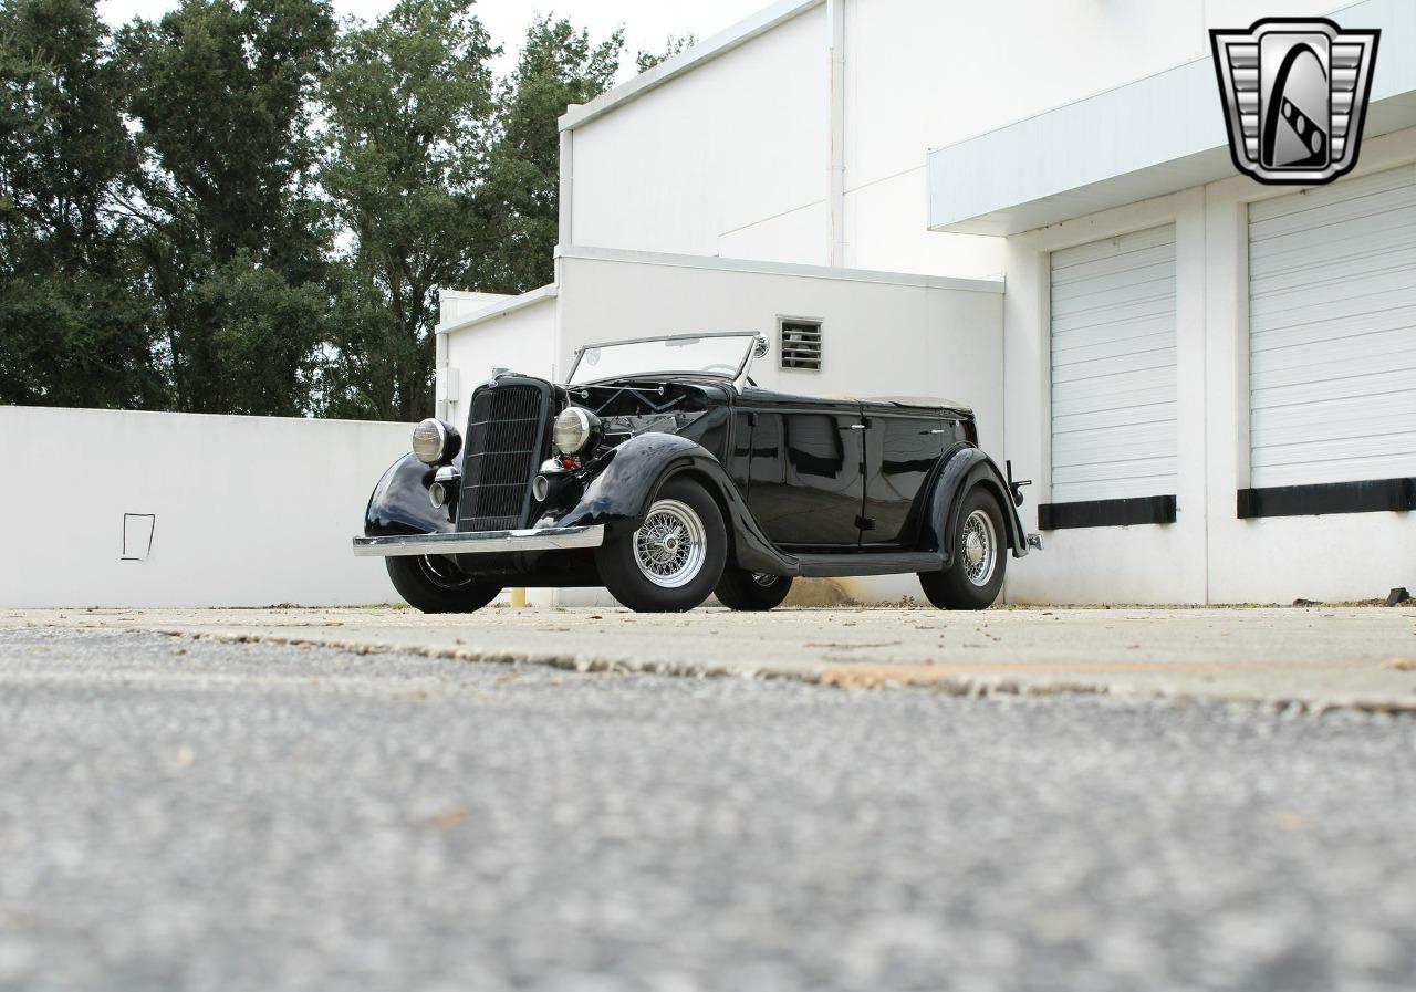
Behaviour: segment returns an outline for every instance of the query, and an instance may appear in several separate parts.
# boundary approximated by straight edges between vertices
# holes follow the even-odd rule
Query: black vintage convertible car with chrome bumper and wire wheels
[[[1041,548],[1020,487],[967,406],[758,388],[752,334],[616,341],[565,385],[497,375],[467,434],[442,420],[379,480],[354,553],[399,594],[466,613],[507,586],[606,586],[640,611],[711,593],[770,610],[794,576],[919,573],[940,609],[981,610]]]

